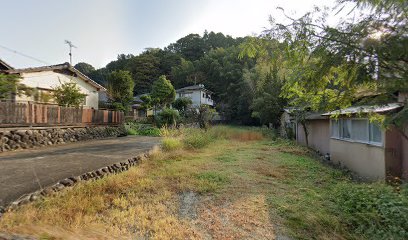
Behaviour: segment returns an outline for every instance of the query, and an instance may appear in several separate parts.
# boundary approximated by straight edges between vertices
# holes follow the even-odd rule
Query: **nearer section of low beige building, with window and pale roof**
[[[384,129],[367,117],[368,113],[398,112],[403,106],[358,106],[323,114],[338,116],[330,120],[331,161],[368,179],[407,178],[408,139],[396,127]]]

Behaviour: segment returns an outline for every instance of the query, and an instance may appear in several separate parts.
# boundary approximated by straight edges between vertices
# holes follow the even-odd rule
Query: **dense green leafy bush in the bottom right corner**
[[[333,194],[347,226],[368,239],[408,239],[408,187],[340,184]]]

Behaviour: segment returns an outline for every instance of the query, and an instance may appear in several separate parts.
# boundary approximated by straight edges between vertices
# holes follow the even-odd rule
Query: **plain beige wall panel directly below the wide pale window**
[[[384,148],[364,143],[330,139],[330,158],[370,180],[386,176]]]

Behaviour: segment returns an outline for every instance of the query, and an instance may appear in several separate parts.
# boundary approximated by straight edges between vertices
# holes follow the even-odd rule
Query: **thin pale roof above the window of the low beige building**
[[[402,103],[388,103],[384,105],[364,105],[364,106],[352,106],[341,110],[336,110],[328,113],[322,114],[323,116],[331,115],[347,115],[356,113],[386,113],[392,110],[402,108],[404,104]]]

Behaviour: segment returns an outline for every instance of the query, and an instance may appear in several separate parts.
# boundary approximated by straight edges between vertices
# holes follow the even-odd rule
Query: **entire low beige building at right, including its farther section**
[[[398,112],[406,104],[406,99],[407,95],[400,93],[396,103],[354,106],[324,114],[310,113],[306,117],[309,147],[367,179],[385,179],[387,176],[408,179],[408,139],[395,127],[383,129],[367,117],[367,113]],[[282,119],[289,119],[296,125],[296,141],[306,145],[303,127],[296,124],[293,117]],[[403,131],[408,135],[408,123],[405,124]]]

